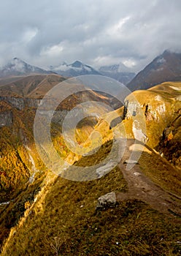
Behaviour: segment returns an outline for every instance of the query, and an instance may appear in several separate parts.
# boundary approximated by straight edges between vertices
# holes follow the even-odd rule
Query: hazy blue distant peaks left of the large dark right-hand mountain
[[[120,68],[121,67],[121,68]],[[66,64],[63,62],[58,65],[58,67],[50,66],[49,70],[45,70],[39,67],[27,64],[21,59],[12,59],[4,67],[0,68],[0,77],[9,76],[20,76],[20,75],[45,75],[45,74],[58,74],[63,77],[76,77],[79,75],[104,75],[115,80],[120,81],[120,83],[128,83],[136,75],[130,72],[129,69],[123,64],[104,66],[100,69],[94,69],[93,67],[83,64],[81,61],[74,61],[72,64]]]

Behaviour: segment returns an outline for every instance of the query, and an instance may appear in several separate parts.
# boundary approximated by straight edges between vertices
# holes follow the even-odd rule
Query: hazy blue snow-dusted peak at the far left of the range
[[[47,71],[39,67],[27,64],[21,59],[14,58],[4,67],[0,68],[0,77],[7,77],[12,75],[30,75],[30,74],[53,74],[55,72]]]

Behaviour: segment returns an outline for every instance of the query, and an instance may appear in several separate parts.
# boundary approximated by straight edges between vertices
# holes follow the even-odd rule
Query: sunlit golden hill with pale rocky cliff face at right
[[[134,91],[125,100],[123,118],[132,121],[134,138],[143,131],[136,128],[136,122],[145,123],[145,136],[149,146],[155,147],[162,138],[163,130],[177,118],[181,108],[180,83],[163,83],[148,91]]]

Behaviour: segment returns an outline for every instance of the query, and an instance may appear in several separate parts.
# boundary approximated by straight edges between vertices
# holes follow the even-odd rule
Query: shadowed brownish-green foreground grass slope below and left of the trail
[[[85,159],[80,159],[80,165],[85,165]],[[180,255],[179,219],[163,216],[137,200],[95,210],[101,195],[126,190],[118,167],[95,181],[56,178],[12,228],[2,255],[56,255],[55,241],[58,255]]]

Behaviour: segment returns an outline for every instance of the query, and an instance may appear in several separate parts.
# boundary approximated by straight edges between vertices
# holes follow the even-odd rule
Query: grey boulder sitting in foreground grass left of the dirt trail
[[[115,192],[110,192],[98,198],[96,210],[105,210],[107,208],[115,207],[118,204]]]

